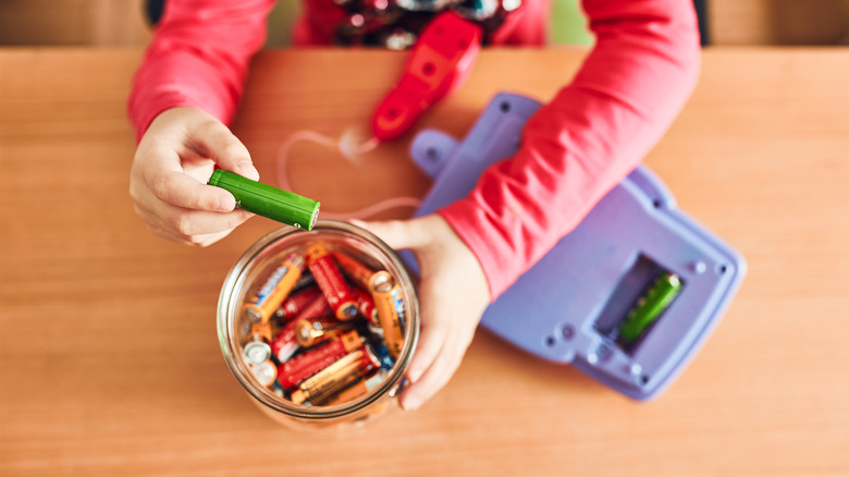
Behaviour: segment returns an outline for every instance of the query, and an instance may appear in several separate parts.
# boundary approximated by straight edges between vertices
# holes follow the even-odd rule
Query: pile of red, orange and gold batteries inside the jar
[[[288,250],[248,289],[242,358],[294,404],[335,405],[374,389],[404,346],[404,294],[366,257],[316,241]]]

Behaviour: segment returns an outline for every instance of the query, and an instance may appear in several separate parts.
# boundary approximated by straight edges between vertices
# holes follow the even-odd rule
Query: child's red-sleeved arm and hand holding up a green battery
[[[133,80],[139,140],[130,173],[136,213],[159,235],[209,245],[247,220],[232,194],[206,184],[216,166],[259,179],[224,125],[248,62],[262,46],[272,0],[169,0]]]

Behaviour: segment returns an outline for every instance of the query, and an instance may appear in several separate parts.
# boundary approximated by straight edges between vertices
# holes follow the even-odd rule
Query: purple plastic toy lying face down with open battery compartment
[[[417,216],[464,197],[487,167],[515,154],[539,106],[500,94],[463,142],[420,133],[411,156],[434,183]],[[648,400],[693,358],[745,274],[743,258],[677,210],[661,181],[638,167],[492,303],[481,323],[530,353]],[[674,291],[659,285],[672,276]],[[623,340],[623,323],[640,319],[639,337]]]

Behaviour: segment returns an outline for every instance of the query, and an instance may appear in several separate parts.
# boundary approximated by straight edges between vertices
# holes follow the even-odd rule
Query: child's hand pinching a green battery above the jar
[[[223,188],[206,185],[213,167],[258,180],[245,146],[212,115],[173,108],[150,123],[130,172],[130,196],[148,229],[165,238],[207,246],[251,213]]]

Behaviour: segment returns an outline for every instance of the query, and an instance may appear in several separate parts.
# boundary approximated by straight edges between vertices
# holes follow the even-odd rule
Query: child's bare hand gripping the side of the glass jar
[[[357,224],[392,248],[411,250],[419,262],[421,335],[407,369],[410,386],[401,395],[401,406],[415,409],[459,367],[490,304],[489,284],[478,259],[438,215]]]

